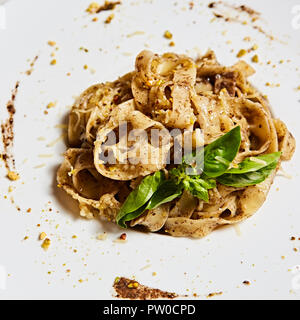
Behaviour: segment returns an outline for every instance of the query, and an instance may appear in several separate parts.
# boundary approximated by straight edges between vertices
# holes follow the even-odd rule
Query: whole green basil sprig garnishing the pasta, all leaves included
[[[229,169],[240,144],[241,128],[238,126],[204,148],[201,174],[190,174],[198,170],[189,164],[187,157],[182,164],[169,171],[168,180],[163,171],[145,177],[125,200],[117,215],[117,223],[126,228],[126,222],[139,217],[146,210],[176,199],[183,190],[208,202],[208,191],[215,188],[217,182],[232,187],[247,187],[263,182],[277,167],[281,152],[249,157],[236,168]]]

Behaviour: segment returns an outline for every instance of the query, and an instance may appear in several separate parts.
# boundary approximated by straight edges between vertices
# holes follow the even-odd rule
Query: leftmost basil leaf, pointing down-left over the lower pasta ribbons
[[[116,218],[117,224],[119,224],[120,220],[122,219],[123,223],[121,223],[124,226],[123,218],[128,213],[133,213],[144,206],[152,197],[154,192],[158,189],[159,185],[164,181],[164,179],[165,175],[162,171],[157,171],[153,175],[145,177],[139,186],[129,194],[123,203]]]

